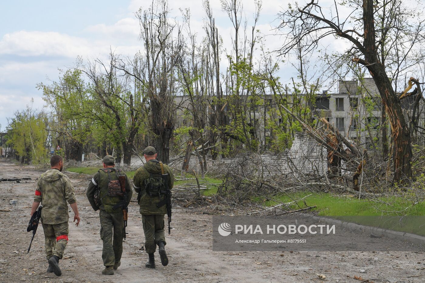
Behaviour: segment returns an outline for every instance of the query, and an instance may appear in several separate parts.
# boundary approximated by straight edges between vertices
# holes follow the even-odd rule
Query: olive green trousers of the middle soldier
[[[104,266],[113,266],[121,260],[124,220],[122,210],[108,213],[100,210],[100,238],[103,241],[102,260]]]

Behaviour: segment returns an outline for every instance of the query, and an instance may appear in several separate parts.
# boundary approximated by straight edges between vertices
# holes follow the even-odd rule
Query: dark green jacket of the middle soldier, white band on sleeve
[[[130,204],[131,196],[133,195],[133,191],[130,187],[130,182],[128,181],[127,175],[124,171],[117,168],[105,168],[105,169],[111,169],[111,180],[118,180],[118,177],[116,176],[116,173],[114,170],[117,170],[119,175],[125,175],[125,192],[127,193],[127,205]],[[90,184],[88,185],[87,189],[87,199],[90,202],[91,207],[93,207],[94,211],[97,211],[98,209],[104,210],[108,213],[115,213],[120,212],[122,209],[116,209],[114,210],[112,207],[115,204],[118,204],[121,202],[121,197],[119,196],[109,196],[108,195],[108,182],[109,182],[109,176],[108,173],[105,173],[103,170],[99,170],[91,179]],[[96,190],[100,190],[100,206],[96,206],[94,203],[94,193]]]

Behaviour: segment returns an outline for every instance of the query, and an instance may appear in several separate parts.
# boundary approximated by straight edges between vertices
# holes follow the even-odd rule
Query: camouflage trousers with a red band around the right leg
[[[59,224],[42,224],[44,231],[44,246],[47,260],[56,255],[62,259],[68,243],[68,222]]]

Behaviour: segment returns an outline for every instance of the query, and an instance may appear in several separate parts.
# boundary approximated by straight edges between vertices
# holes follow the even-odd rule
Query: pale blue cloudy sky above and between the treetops
[[[280,7],[289,0],[263,1],[257,26],[270,34]],[[292,2],[292,1],[291,1]],[[137,39],[139,23],[134,17],[145,0],[74,0],[74,1],[1,1],[0,11],[0,131],[7,125],[6,117],[22,110],[34,99],[34,108],[42,109],[42,93],[37,83],[57,80],[58,68],[71,67],[77,56],[83,59],[105,58],[110,48],[116,53],[132,56],[140,48]],[[332,2],[333,3],[333,2]],[[246,17],[254,12],[252,0],[243,0]],[[230,48],[232,24],[221,11],[218,0],[211,0],[218,32],[224,48]],[[203,36],[204,11],[201,0],[170,0],[174,17],[178,8],[190,8],[191,28]],[[248,23],[250,27],[251,23]],[[200,39],[198,39],[198,42]],[[279,37],[266,41],[271,50],[280,45]],[[282,66],[283,80],[290,80],[293,69]]]

